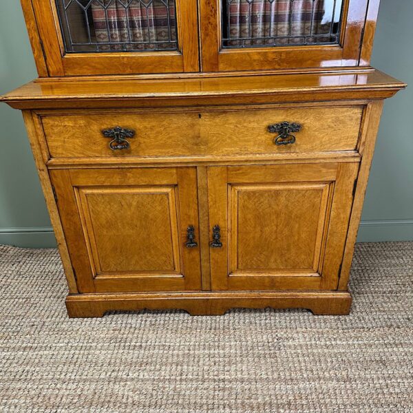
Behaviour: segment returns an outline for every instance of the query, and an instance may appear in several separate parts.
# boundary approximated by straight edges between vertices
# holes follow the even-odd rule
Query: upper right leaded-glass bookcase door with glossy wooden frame
[[[202,70],[356,66],[368,0],[200,0]]]

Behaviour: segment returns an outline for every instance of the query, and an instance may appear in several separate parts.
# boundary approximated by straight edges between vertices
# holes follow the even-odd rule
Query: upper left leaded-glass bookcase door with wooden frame
[[[49,76],[197,72],[187,0],[32,0]]]

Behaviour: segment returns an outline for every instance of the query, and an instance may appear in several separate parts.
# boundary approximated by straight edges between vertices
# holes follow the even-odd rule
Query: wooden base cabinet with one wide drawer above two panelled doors
[[[290,76],[273,81],[286,85]],[[297,85],[312,76],[299,75]],[[204,78],[194,96],[183,91],[156,103],[131,89],[127,100],[18,101],[29,105],[23,117],[69,286],[69,316],[266,307],[348,314],[383,99],[404,87],[369,76],[384,78],[372,90],[357,84],[346,92],[339,83],[331,95],[323,85],[332,77],[319,75],[301,87],[299,103],[291,101],[295,85],[267,83],[271,94],[253,96],[263,87],[257,76],[243,96],[218,96],[240,87],[239,78]]]

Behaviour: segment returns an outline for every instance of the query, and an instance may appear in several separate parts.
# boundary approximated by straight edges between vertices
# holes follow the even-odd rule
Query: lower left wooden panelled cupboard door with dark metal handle
[[[195,168],[50,175],[81,293],[200,290]]]

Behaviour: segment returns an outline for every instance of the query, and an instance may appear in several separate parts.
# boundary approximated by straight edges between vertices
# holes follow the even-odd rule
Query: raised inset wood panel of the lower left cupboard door
[[[96,275],[180,273],[175,188],[81,188],[76,195]]]

